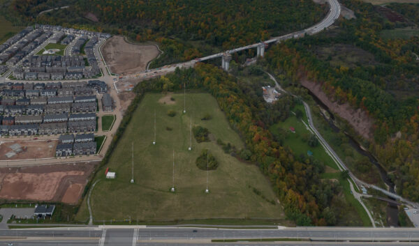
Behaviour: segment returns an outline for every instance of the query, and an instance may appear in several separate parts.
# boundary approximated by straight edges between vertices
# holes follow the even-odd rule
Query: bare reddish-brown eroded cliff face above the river
[[[321,100],[330,111],[334,114],[337,114],[339,117],[344,118],[348,121],[349,124],[355,129],[358,134],[366,139],[372,139],[373,137],[373,124],[374,121],[372,117],[368,116],[367,112],[363,111],[362,109],[354,109],[348,103],[344,103],[339,105],[337,102],[333,102],[328,98],[328,95],[323,92],[321,89],[321,84],[311,82],[307,79],[302,79],[300,81],[302,86],[306,87],[316,95],[316,97]]]

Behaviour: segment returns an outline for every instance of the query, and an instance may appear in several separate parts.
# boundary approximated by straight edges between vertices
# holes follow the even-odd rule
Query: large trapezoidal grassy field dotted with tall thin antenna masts
[[[115,180],[102,179],[91,195],[96,222],[100,220],[176,221],[209,218],[284,218],[281,206],[270,183],[256,165],[244,164],[223,152],[216,139],[243,148],[239,135],[230,128],[216,100],[207,93],[186,95],[186,114],[183,94],[173,94],[175,100],[159,100],[165,95],[147,94],[133,114],[117,148],[105,168],[116,171]],[[174,102],[174,104],[172,104]],[[154,110],[156,111],[156,145],[154,139]],[[167,115],[169,110],[177,114]],[[192,139],[189,147],[190,121],[210,130],[210,142],[197,144]],[[210,121],[201,121],[210,114]],[[134,142],[134,179],[131,184],[131,143]],[[201,151],[209,149],[219,162],[218,169],[209,173],[210,194],[205,193],[206,171],[196,167]],[[175,151],[175,188],[172,187],[172,151]],[[253,187],[266,199],[253,192]],[[86,202],[77,220],[87,220]],[[245,206],[244,206],[245,205]],[[205,220],[202,220],[205,222]],[[240,220],[237,220],[240,222]],[[243,220],[244,221],[244,220]],[[98,222],[100,223],[100,222]],[[289,224],[283,221],[281,224]]]

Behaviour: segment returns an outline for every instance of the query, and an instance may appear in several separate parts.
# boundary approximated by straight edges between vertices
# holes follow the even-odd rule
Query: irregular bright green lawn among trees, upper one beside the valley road
[[[295,112],[296,109],[300,109],[303,112],[302,120],[307,123],[307,115],[305,114],[304,105],[297,105],[293,111]],[[295,133],[291,132],[289,129],[290,127],[295,128]],[[306,141],[303,141],[303,134],[311,135],[311,132],[307,130],[304,123],[297,119],[296,116],[291,115],[286,119],[284,122],[279,122],[270,127],[270,132],[273,134],[281,134],[280,129],[284,130],[286,133],[286,137],[284,140],[284,146],[288,146],[291,148],[294,153],[297,155],[305,155],[307,156],[307,151],[311,151],[313,153],[313,157],[315,159],[320,160],[324,164],[328,165],[332,169],[338,170],[338,167],[332,157],[325,152],[325,149],[319,143],[316,147],[311,147],[307,144]]]

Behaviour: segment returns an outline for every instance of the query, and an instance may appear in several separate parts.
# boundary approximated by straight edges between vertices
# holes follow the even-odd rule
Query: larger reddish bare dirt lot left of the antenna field
[[[77,203],[97,163],[0,168],[0,199]]]

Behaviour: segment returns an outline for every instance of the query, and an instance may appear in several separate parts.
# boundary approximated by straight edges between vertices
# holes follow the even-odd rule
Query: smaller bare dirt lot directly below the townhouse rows
[[[22,151],[13,151],[10,146],[19,144]],[[19,141],[6,141],[0,145],[0,160],[27,160],[39,159],[55,156],[55,147],[57,140],[19,140]],[[14,152],[15,155],[7,157],[6,153]]]

